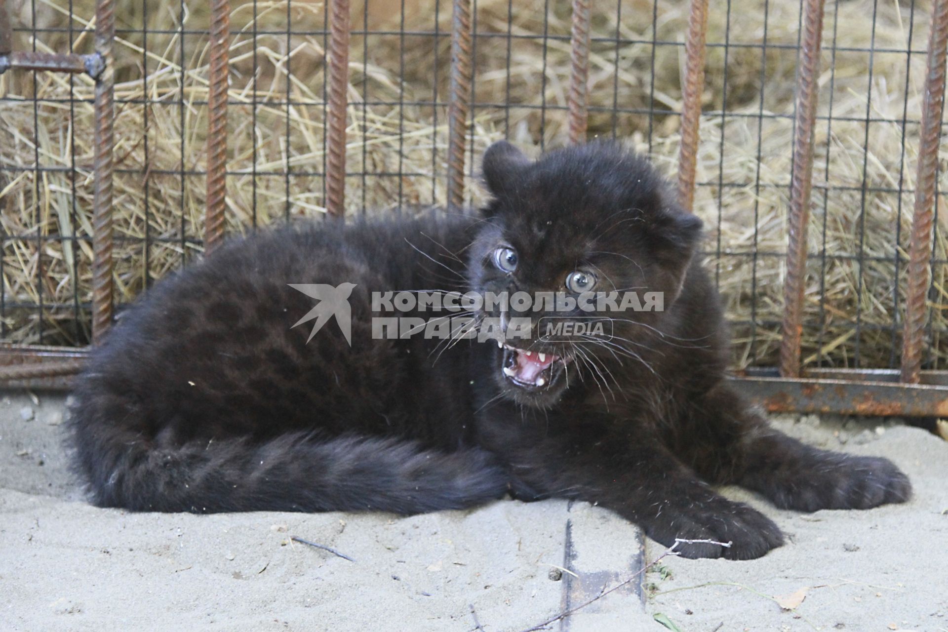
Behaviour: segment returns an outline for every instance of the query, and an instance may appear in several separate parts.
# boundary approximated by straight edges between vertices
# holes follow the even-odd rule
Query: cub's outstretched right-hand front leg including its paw
[[[702,477],[736,483],[781,509],[869,509],[904,502],[912,485],[892,461],[821,450],[770,427],[731,388],[711,389],[690,427]]]

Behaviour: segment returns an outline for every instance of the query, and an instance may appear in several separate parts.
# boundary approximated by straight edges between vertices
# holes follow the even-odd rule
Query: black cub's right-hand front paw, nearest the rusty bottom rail
[[[774,504],[784,509],[869,509],[905,502],[912,484],[892,461],[825,453],[811,467],[785,475],[775,485]]]

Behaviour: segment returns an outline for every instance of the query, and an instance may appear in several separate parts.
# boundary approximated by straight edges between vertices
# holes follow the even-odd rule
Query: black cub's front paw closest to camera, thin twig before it
[[[690,503],[676,508],[664,524],[646,525],[647,535],[666,547],[675,539],[714,540],[730,542],[730,547],[708,543],[684,543],[675,551],[692,559],[724,557],[730,560],[751,560],[783,545],[783,533],[774,521],[755,509],[722,497],[706,502]],[[659,517],[662,517],[660,515]]]

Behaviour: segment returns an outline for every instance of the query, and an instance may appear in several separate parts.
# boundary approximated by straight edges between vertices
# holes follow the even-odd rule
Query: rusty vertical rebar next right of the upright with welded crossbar
[[[210,3],[210,77],[208,90],[208,208],[204,215],[204,252],[224,239],[224,209],[228,183],[228,53],[230,3]]]

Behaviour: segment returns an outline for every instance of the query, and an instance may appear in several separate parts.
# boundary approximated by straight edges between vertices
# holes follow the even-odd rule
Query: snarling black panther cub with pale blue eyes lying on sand
[[[701,221],[644,159],[591,143],[534,162],[501,142],[483,177],[493,201],[478,216],[262,232],[158,283],[122,314],[75,390],[76,463],[93,502],[411,514],[508,492],[567,497],[665,545],[733,542],[684,555],[747,559],[783,537],[710,484],[802,511],[910,496],[888,460],[794,441],[731,389],[720,301],[693,257]],[[291,283],[351,291],[340,303],[351,332],[344,310],[319,316],[316,332],[312,321],[295,326],[319,302]],[[388,307],[373,301],[392,291],[563,303],[471,307],[466,316],[490,319],[501,342],[461,330],[392,339],[374,326]],[[662,297],[661,309],[578,306],[633,291]],[[548,315],[536,310],[554,304],[558,318],[608,327],[544,333]],[[432,317],[418,304],[398,316]]]

